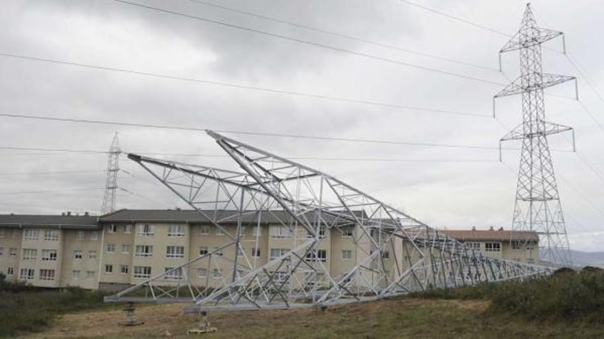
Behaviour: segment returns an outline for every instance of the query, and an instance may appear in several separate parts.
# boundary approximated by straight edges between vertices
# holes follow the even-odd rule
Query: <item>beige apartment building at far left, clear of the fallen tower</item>
[[[98,288],[96,216],[1,215],[0,273],[35,286]]]

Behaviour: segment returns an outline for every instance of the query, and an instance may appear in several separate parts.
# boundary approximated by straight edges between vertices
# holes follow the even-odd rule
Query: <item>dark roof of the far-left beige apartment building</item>
[[[99,225],[97,216],[0,214],[0,227],[98,229]]]

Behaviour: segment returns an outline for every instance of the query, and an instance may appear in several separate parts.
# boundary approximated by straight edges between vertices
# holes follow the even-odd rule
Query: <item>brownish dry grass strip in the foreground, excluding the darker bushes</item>
[[[485,316],[488,301],[397,299],[314,310],[211,312],[216,334],[202,338],[603,338],[604,327],[587,323],[537,323]],[[119,310],[62,316],[47,331],[23,338],[187,338],[196,316],[183,304],[137,309],[145,325],[120,327]],[[168,335],[170,334],[170,335]]]

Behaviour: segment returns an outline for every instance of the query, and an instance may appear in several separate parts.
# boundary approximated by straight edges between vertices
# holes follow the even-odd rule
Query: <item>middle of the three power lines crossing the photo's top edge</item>
[[[345,38],[345,39],[356,41],[356,42],[362,42],[362,43],[367,44],[367,45],[374,45],[374,46],[377,46],[377,47],[384,47],[384,48],[387,48],[387,49],[393,49],[395,51],[401,51],[401,52],[404,52],[404,53],[410,53],[410,54],[420,55],[420,56],[423,56],[423,57],[426,57],[426,58],[432,58],[432,59],[436,59],[436,60],[442,60],[442,61],[446,61],[446,62],[452,62],[454,64],[461,64],[461,65],[464,65],[464,66],[471,66],[471,67],[475,67],[475,68],[481,68],[481,69],[485,69],[487,71],[496,71],[496,72],[499,71],[497,68],[493,68],[493,67],[489,67],[489,66],[483,66],[483,65],[479,65],[479,64],[474,64],[472,62],[465,62],[465,61],[455,60],[455,59],[451,59],[451,58],[444,58],[444,57],[442,57],[440,55],[434,55],[434,54],[430,54],[430,53],[426,53],[426,52],[415,51],[415,50],[412,50],[412,49],[406,49],[406,48],[402,48],[402,47],[399,47],[399,46],[386,44],[384,42],[375,42],[375,41],[368,40],[368,39],[365,39],[365,38],[359,38],[358,36],[351,36],[349,34],[342,34],[342,33],[338,33],[338,32],[332,32],[332,31],[329,31],[327,29],[321,29],[321,28],[311,27],[309,25],[302,25],[300,23],[293,23],[291,21],[286,21],[286,20],[279,19],[279,18],[273,18],[273,17],[270,17],[270,16],[266,16],[266,15],[262,15],[262,14],[257,14],[257,13],[254,13],[254,12],[247,12],[247,11],[244,11],[244,10],[239,10],[237,8],[227,7],[225,5],[218,5],[216,3],[210,3],[210,2],[207,2],[207,1],[200,1],[200,0],[187,0],[187,1],[190,1],[192,3],[198,3],[200,5],[205,5],[205,6],[213,7],[213,8],[219,8],[220,10],[226,10],[226,11],[229,11],[229,12],[235,12],[235,13],[244,14],[244,15],[247,15],[247,16],[253,16],[255,18],[262,18],[263,20],[272,21],[274,23],[281,23],[281,24],[284,24],[284,25],[290,25],[292,27],[299,27],[299,28],[307,29],[307,30],[312,31],[312,32],[318,32],[318,33],[322,33],[322,34],[328,34],[328,35],[331,35],[331,36],[337,36],[338,38]]]

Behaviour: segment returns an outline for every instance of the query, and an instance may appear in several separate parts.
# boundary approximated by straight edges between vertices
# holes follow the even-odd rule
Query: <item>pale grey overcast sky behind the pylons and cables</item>
[[[496,84],[112,0],[8,0],[3,1],[0,11],[0,53],[483,116],[296,97],[5,56],[0,56],[0,113],[484,147],[496,147],[507,129],[520,123],[519,97],[498,102],[500,123],[490,117],[491,98],[502,88],[498,83],[509,82],[519,72],[518,53],[504,55],[504,74],[498,72],[498,51],[507,38],[404,1],[207,0],[458,63],[189,0],[132,1]],[[518,30],[524,11],[523,1],[413,1],[510,35]],[[594,34],[603,29],[601,1],[541,0],[533,1],[533,7],[542,27],[566,33],[570,55],[591,83],[604,84],[604,50],[600,37]],[[548,48],[544,51],[544,71],[579,75],[558,52],[561,40],[548,42]],[[579,80],[581,101],[604,123],[604,101],[596,97],[585,79]],[[597,90],[604,93],[604,88]],[[561,85],[548,93],[573,97],[574,86]],[[604,129],[577,101],[557,96],[546,97],[546,116],[549,121],[576,129],[579,156],[592,166],[568,152],[572,149],[570,134],[550,138],[551,147],[557,150],[553,151],[553,160],[571,246],[602,250]],[[0,117],[0,147],[106,150],[115,131],[126,152],[222,155],[213,140],[200,132],[8,117]],[[498,162],[496,149],[229,136],[286,157],[364,159],[300,161],[434,227],[509,228],[511,224],[518,151],[504,150],[504,163],[511,170]],[[227,158],[161,157],[236,168]],[[0,149],[0,212],[98,213],[106,163],[107,155],[103,153]],[[120,173],[119,186],[134,194],[119,192],[118,208],[186,208],[137,164],[121,158],[120,166],[130,174]]]

